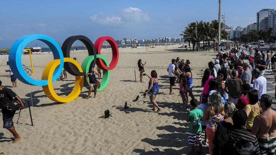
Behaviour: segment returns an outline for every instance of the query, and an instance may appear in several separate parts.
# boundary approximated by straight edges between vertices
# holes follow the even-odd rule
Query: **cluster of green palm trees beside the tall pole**
[[[181,31],[182,33],[180,35],[183,36],[185,41],[188,41],[189,46],[190,43],[193,44],[193,50],[195,49],[195,45],[197,45],[196,51],[199,51],[199,42],[203,41],[205,47],[210,47],[211,42],[218,41],[218,28],[218,20],[212,20],[211,23],[203,22],[201,20],[189,23],[188,26],[185,27],[183,31]],[[227,32],[222,30],[220,33],[220,38],[227,39]],[[208,49],[210,51],[210,48]]]

